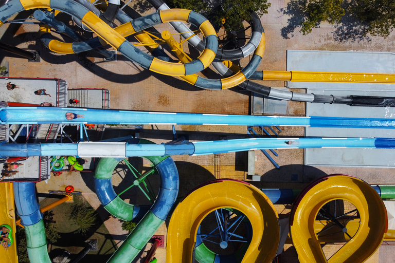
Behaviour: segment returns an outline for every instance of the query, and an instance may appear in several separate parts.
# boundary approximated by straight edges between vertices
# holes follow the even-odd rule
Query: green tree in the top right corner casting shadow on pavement
[[[363,35],[387,37],[395,28],[393,0],[303,0],[302,10],[304,21],[300,32],[304,35],[323,21],[340,24],[344,16],[355,20],[363,28]]]

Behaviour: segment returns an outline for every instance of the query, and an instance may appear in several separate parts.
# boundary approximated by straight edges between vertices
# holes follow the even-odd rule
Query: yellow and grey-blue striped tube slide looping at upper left
[[[218,49],[217,33],[208,20],[196,12],[184,9],[164,10],[139,17],[130,23],[119,26],[118,30],[122,29],[125,30],[125,33],[133,34],[170,21],[191,23],[202,31],[205,40],[205,49],[199,58],[186,64],[166,62],[146,54],[127,41],[124,38],[126,34],[119,33],[97,17],[92,11],[71,0],[23,0],[21,2],[19,0],[11,0],[6,5],[0,7],[0,26],[12,15],[23,10],[35,8],[52,8],[76,16],[105,42],[113,46],[131,61],[143,68],[169,76],[185,76],[202,71],[213,61]]]

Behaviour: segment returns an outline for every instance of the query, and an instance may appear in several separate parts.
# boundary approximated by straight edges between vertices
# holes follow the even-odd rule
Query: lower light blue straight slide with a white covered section
[[[393,138],[250,138],[222,141],[188,142],[185,144],[128,144],[126,142],[79,143],[3,143],[1,158],[9,156],[57,156],[80,157],[171,156],[209,155],[256,149],[297,148],[395,148]]]

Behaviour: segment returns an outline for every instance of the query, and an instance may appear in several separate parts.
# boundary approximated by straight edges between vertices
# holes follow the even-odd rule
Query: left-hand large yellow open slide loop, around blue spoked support
[[[197,228],[220,208],[237,209],[253,226],[252,241],[242,263],[272,262],[280,239],[277,212],[257,187],[238,180],[216,180],[190,193],[173,212],[167,232],[167,263],[190,263]]]

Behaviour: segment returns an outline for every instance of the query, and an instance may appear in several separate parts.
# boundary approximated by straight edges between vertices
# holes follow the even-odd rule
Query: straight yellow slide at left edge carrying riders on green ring
[[[18,256],[16,254],[16,239],[15,239],[15,206],[14,206],[14,191],[12,183],[0,183],[0,225],[8,224],[12,228],[13,243],[6,251],[3,246],[0,246],[0,261],[7,263],[17,263]]]

